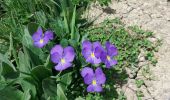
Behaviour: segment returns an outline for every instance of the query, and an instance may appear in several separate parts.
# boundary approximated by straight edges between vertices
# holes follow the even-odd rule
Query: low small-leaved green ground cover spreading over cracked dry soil
[[[89,34],[88,37],[92,41],[102,41],[103,44],[105,41],[110,41],[115,44],[119,51],[119,55],[116,57],[119,64],[116,68],[124,68],[137,65],[141,49],[150,52],[147,57],[153,58],[154,48],[158,46],[148,40],[148,37],[153,35],[147,34],[152,32],[143,31],[136,28],[137,26],[134,27],[125,28],[124,24],[117,18],[106,20],[95,28],[85,30],[82,34]]]

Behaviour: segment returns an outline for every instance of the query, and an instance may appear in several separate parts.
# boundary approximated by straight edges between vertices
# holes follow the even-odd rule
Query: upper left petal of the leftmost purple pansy
[[[43,30],[41,27],[32,35],[34,42],[38,42],[42,38]]]

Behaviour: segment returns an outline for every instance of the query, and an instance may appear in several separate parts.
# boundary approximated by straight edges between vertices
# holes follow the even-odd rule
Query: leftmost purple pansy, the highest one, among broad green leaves
[[[43,34],[43,30],[40,27],[38,28],[37,32],[33,34],[32,39],[36,47],[42,48],[48,43],[49,40],[53,39],[53,32],[46,31],[45,34]]]

